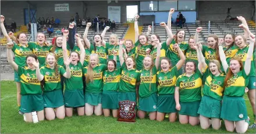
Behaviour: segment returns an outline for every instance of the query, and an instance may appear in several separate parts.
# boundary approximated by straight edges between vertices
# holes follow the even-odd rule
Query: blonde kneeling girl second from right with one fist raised
[[[198,45],[199,44],[199,45]],[[205,75],[205,85],[202,89],[202,100],[198,109],[200,114],[200,124],[202,129],[212,128],[218,130],[221,127],[221,101],[224,88],[225,74],[222,73],[221,64],[216,59],[209,60],[209,65],[206,64],[204,55],[200,49],[201,44],[197,43],[198,68]],[[211,120],[209,120],[211,118]]]

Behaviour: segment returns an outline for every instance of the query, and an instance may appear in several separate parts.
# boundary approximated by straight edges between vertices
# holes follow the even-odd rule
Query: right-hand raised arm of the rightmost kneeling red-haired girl
[[[246,72],[246,75],[249,75],[251,70],[251,58],[253,58],[253,47],[255,43],[255,35],[251,34],[249,36],[249,39],[250,39],[249,49],[247,51],[246,62],[244,62],[244,72]]]

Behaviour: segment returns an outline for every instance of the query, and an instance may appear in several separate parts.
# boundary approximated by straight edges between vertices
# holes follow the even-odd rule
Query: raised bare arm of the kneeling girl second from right
[[[202,71],[207,67],[207,64],[205,62],[204,55],[202,55],[202,51],[201,51],[199,44],[201,44],[201,43],[198,42],[197,44],[195,44],[194,47],[197,50],[198,70],[200,70],[200,72],[202,74]]]

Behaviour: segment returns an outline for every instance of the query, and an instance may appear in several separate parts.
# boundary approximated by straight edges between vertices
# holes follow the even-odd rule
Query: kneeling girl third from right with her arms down
[[[179,111],[181,124],[199,123],[197,111],[201,101],[202,70],[196,69],[195,66],[195,62],[187,61],[186,73],[180,75],[175,84],[176,109]],[[198,68],[201,68],[200,64]]]

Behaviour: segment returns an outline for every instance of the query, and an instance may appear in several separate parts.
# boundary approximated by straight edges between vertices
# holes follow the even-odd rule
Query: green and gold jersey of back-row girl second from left
[[[40,44],[36,42],[29,42],[28,44],[30,49],[33,50],[33,53],[37,55],[40,67],[45,66],[45,57],[51,50],[52,46],[47,46],[44,44],[44,46],[41,47]]]

